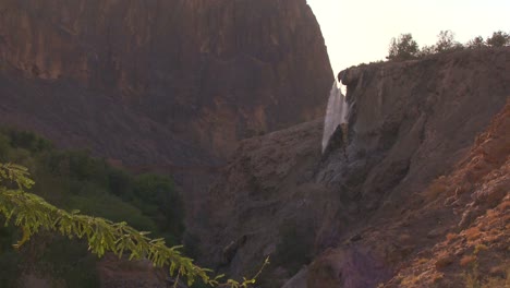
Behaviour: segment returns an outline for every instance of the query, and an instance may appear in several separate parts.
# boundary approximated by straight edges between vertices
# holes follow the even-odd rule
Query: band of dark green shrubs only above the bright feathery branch
[[[29,167],[40,183],[34,193],[50,203],[125,220],[137,229],[165,236],[173,244],[181,240],[184,206],[169,177],[153,173],[135,177],[104,159],[90,157],[86,151],[57,151],[32,132],[5,128],[0,129],[0,160]],[[46,187],[51,187],[51,191]]]

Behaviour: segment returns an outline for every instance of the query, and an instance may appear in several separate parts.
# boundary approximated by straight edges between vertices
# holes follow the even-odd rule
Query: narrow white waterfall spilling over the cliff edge
[[[339,124],[347,122],[348,105],[337,81],[335,80],[329,93],[328,108],[324,120],[323,153],[328,146],[329,139]]]

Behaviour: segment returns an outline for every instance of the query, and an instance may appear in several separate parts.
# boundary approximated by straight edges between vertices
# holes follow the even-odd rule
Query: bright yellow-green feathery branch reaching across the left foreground
[[[150,239],[148,232],[141,232],[126,223],[71,213],[57,208],[40,196],[25,192],[34,181],[28,178],[27,169],[17,165],[0,165],[0,214],[5,217],[5,225],[14,224],[23,233],[14,245],[21,248],[41,231],[60,233],[69,239],[84,239],[88,250],[97,256],[111,252],[119,257],[129,254],[130,260],[147,259],[156,267],[168,267],[171,276],[186,278],[187,285],[199,278],[204,284],[218,286],[222,275],[212,276],[211,271],[196,266],[192,259],[181,254],[181,247],[169,248],[165,240]],[[268,264],[266,260],[263,268]],[[229,279],[226,285],[245,288],[255,284],[255,278],[242,283]]]

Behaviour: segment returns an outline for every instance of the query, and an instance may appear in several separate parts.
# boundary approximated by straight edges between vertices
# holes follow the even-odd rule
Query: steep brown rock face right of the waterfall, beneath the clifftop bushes
[[[449,171],[502,109],[509,53],[466,50],[348,70],[348,158],[330,155],[318,181],[356,203],[350,215],[405,205],[411,191]]]

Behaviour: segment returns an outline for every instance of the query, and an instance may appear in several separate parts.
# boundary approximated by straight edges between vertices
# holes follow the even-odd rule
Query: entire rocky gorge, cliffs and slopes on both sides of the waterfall
[[[0,60],[2,125],[172,176],[185,251],[215,272],[269,256],[256,287],[508,284],[509,47],[335,76],[306,0],[0,0]]]

